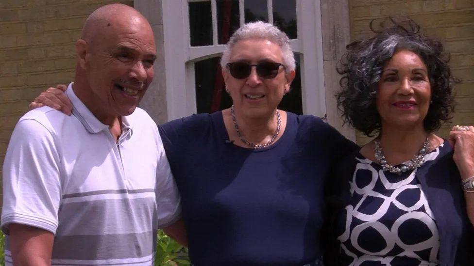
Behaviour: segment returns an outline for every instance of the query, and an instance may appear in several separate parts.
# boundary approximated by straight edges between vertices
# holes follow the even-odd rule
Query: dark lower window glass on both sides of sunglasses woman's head
[[[302,114],[303,105],[301,100],[299,54],[295,54],[295,59],[295,79],[291,83],[290,92],[283,97],[278,108],[296,114]],[[218,110],[227,109],[232,105],[232,99],[225,91],[219,61],[219,57],[214,57],[194,63],[196,108],[198,113],[212,113]]]

